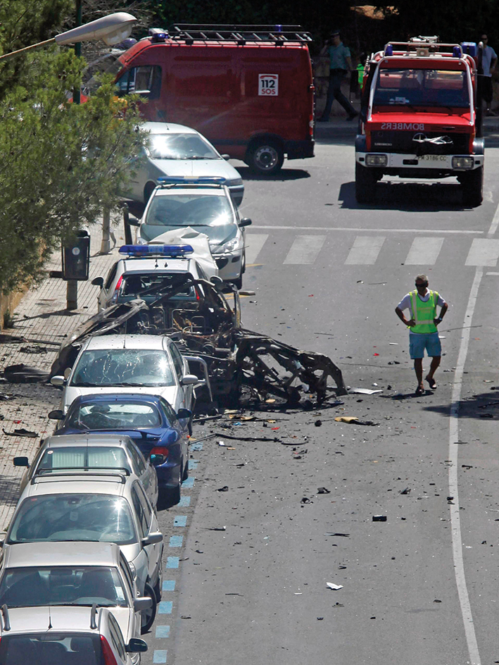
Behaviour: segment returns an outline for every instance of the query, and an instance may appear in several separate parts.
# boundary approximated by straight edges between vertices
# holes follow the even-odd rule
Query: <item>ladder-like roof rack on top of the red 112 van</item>
[[[175,23],[168,28],[172,39],[184,39],[188,44],[201,42],[312,42],[310,32],[301,25],[231,25],[210,23]]]

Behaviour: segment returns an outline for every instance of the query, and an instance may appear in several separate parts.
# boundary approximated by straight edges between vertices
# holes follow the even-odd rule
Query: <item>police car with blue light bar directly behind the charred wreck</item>
[[[110,305],[140,298],[151,303],[169,290],[177,290],[172,300],[196,302],[201,285],[187,285],[189,280],[212,280],[217,266],[195,259],[191,245],[123,245],[118,259],[106,279],[96,277],[92,284],[101,287],[97,297],[98,311]],[[210,272],[208,275],[207,271]]]

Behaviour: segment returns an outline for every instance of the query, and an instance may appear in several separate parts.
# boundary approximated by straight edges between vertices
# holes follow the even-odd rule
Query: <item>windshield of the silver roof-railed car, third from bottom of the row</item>
[[[130,545],[137,536],[130,506],[122,497],[89,493],[25,499],[13,518],[8,543],[52,540]]]

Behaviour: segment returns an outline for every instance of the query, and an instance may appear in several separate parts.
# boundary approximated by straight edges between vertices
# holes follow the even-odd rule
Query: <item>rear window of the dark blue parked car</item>
[[[161,416],[153,404],[97,402],[96,404],[81,404],[77,408],[71,409],[65,419],[64,425],[78,430],[152,428],[161,426]],[[59,450],[61,448],[54,449],[53,454],[56,454]],[[71,450],[75,450],[75,448],[72,447]],[[99,454],[99,451],[104,451],[106,448],[87,448],[87,450],[95,451],[96,454]],[[122,449],[110,448],[109,450],[119,451],[124,455]],[[96,459],[93,454],[91,454],[91,459]]]

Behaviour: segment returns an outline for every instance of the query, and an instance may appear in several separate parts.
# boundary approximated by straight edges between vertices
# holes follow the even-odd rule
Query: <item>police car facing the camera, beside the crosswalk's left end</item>
[[[224,178],[158,178],[140,222],[137,243],[163,242],[173,230],[189,229],[208,238],[211,254],[224,282],[242,286],[246,268],[245,227]]]

